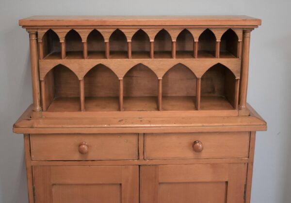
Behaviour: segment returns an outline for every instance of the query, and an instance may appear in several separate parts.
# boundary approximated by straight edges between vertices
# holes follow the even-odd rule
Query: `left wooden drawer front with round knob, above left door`
[[[137,134],[31,134],[32,160],[136,160]]]

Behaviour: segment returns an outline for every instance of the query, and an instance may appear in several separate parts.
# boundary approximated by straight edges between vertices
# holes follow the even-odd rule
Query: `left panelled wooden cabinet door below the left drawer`
[[[34,166],[35,203],[138,203],[138,166]]]

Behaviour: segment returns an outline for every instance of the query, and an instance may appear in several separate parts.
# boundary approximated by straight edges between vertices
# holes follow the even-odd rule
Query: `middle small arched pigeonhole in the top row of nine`
[[[131,57],[149,58],[150,42],[146,32],[139,29],[131,38]]]

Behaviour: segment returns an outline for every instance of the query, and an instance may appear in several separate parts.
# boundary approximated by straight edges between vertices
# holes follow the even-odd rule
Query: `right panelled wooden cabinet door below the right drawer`
[[[246,164],[141,167],[141,203],[243,203]]]

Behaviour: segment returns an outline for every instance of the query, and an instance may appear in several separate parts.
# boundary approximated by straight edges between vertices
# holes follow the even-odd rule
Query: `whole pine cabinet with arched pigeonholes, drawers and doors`
[[[249,203],[248,16],[32,16],[30,203]]]

